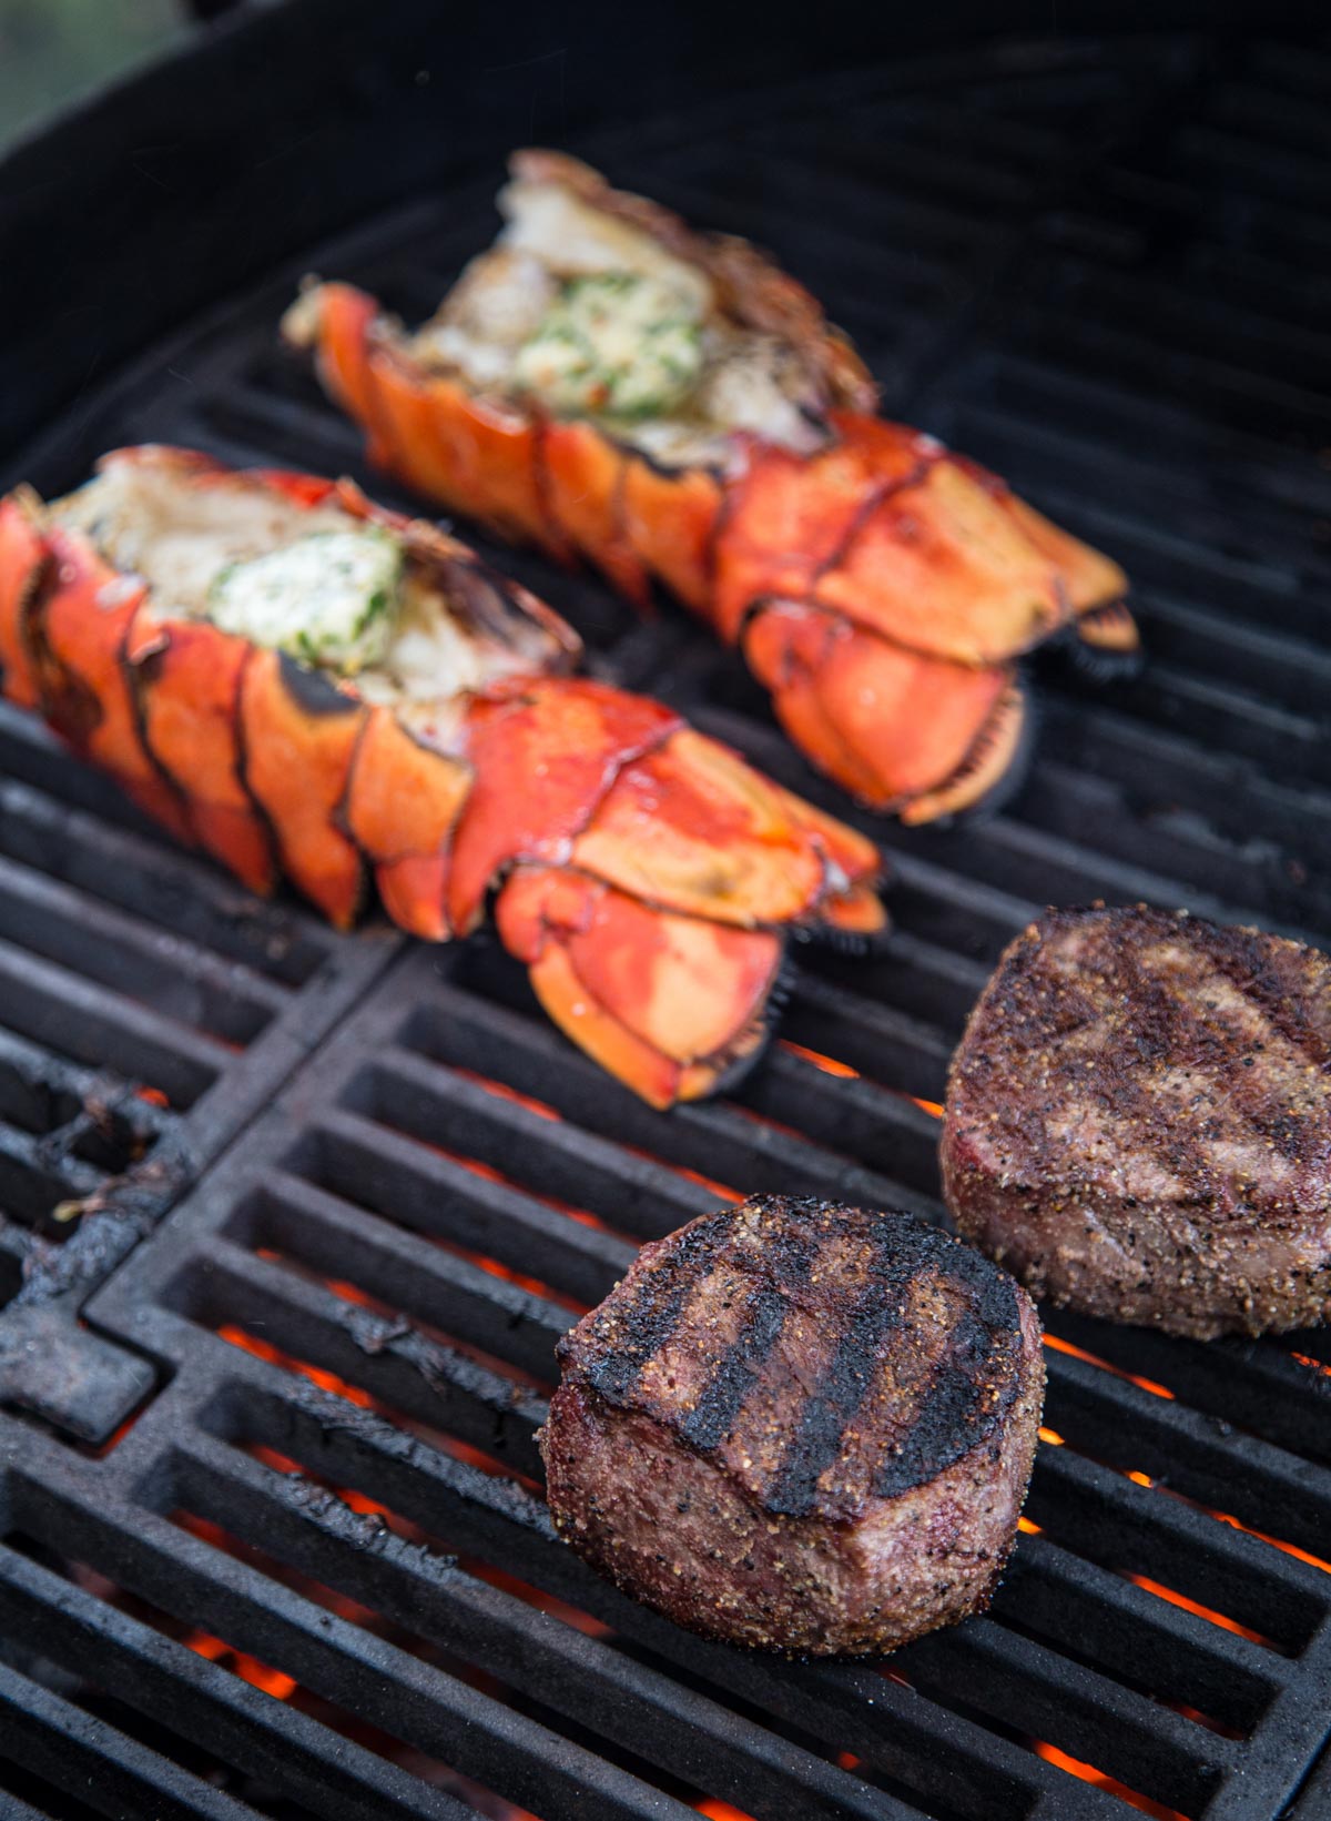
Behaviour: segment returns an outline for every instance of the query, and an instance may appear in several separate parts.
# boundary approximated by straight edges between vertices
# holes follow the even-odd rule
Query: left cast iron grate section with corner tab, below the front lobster
[[[379,972],[178,852],[0,705],[0,1400],[102,1444],[144,1360],[78,1304]]]

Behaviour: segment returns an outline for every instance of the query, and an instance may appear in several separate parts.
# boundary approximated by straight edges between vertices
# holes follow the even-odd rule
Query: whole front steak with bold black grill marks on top
[[[559,1346],[555,1528],[692,1630],[874,1653],[989,1602],[1034,1459],[1027,1295],[910,1215],[759,1196]]]

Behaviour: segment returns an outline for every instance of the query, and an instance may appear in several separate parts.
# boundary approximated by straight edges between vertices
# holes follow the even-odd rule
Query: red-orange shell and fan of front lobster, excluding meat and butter
[[[574,636],[466,546],[350,483],[160,448],[117,452],[102,473],[129,475],[162,523],[240,493],[297,521],[322,508],[391,528],[506,661],[441,690],[422,727],[362,679],[173,610],[60,506],[4,499],[5,694],[251,889],[286,876],[346,927],[373,876],[393,921],[430,941],[470,934],[493,894],[550,1016],[655,1105],[756,1054],[792,931],[883,927],[869,841],[670,708],[559,674]]]

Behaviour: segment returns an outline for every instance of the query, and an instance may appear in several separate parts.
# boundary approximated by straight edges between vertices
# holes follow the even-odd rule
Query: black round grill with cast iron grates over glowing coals
[[[892,945],[801,954],[783,1042],[670,1116],[570,1051],[484,938],[257,905],[0,714],[0,1810],[1329,1814],[1326,1333],[1051,1315],[994,1608],[881,1666],[747,1655],[623,1599],[555,1542],[533,1431],[559,1335],[719,1195],[941,1218],[918,1102],[1041,903],[1331,932],[1331,46],[1151,33],[847,71],[819,42],[792,80],[726,38],[706,98],[703,35],[605,124],[630,109],[588,71],[625,66],[623,20],[579,64],[523,20],[450,47],[433,9],[377,13],[226,24],[11,158],[9,270],[44,208],[47,259],[36,351],[4,355],[5,484],[58,492],[157,439],[411,504],[277,315],[306,270],[424,315],[490,239],[503,151],[557,137],[768,244],[890,413],[1123,559],[1153,661],[1098,687],[1041,659],[1036,763],[989,821],[863,818]],[[209,71],[248,86],[204,133]],[[124,191],[118,215],[80,228],[80,184]],[[608,674],[845,812],[683,615],[492,554]]]

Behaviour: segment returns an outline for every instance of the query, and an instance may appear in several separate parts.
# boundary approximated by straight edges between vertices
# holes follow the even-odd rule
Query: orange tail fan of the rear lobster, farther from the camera
[[[932,439],[832,422],[808,459],[752,453],[710,617],[814,765],[870,809],[930,821],[1016,779],[1021,652],[1069,628],[1094,674],[1134,663],[1127,577]]]

